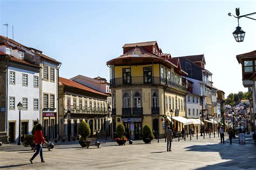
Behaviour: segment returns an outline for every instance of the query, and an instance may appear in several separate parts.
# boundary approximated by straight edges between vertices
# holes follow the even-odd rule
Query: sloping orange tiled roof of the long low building
[[[79,84],[79,83],[77,83],[73,80],[65,79],[63,77],[59,77],[59,82],[62,83],[62,84],[65,84],[66,86],[71,86],[71,87],[75,87],[75,88],[82,89],[82,90],[85,90],[85,91],[90,91],[92,93],[96,93],[96,94],[103,95],[103,96],[109,96],[109,95],[106,95],[104,93],[101,93],[100,91],[97,91],[97,90],[92,89],[90,87]]]

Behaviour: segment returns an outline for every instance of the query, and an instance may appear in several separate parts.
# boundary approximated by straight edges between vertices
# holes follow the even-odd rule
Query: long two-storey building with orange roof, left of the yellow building
[[[76,139],[81,121],[90,125],[91,136],[105,137],[109,128],[106,124],[108,96],[76,81],[59,77],[59,137],[65,139],[70,134],[71,138]],[[70,118],[66,114],[68,111],[71,112]]]

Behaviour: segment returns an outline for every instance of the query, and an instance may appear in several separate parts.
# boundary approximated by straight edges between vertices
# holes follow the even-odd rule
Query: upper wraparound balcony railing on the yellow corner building
[[[123,82],[123,78],[114,78],[110,80],[110,86],[120,86],[120,85],[125,85],[127,84],[126,82]],[[171,80],[167,80],[165,78],[160,78],[160,77],[152,77],[150,82],[144,82],[144,77],[143,76],[132,76],[131,81],[129,84],[161,84],[161,85],[166,85],[169,87],[177,88],[183,91],[187,91],[186,87],[178,84],[176,82],[173,82]]]

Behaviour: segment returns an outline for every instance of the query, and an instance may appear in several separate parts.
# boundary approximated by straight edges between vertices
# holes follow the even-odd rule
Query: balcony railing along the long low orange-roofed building
[[[67,110],[65,110],[67,111]],[[70,106],[71,114],[106,114],[107,111],[104,108],[90,108],[90,107],[79,107]]]

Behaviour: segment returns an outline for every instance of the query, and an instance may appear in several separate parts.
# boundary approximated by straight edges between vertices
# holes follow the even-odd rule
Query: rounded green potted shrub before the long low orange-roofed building
[[[82,147],[86,146],[86,142],[90,143],[90,141],[86,141],[86,137],[89,136],[90,132],[90,126],[86,122],[82,121],[78,126],[78,134],[80,135],[78,142]]]

